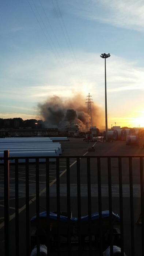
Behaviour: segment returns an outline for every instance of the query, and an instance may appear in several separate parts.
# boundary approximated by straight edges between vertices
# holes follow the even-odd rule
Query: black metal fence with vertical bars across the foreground
[[[1,168],[4,169],[4,254],[9,255],[30,255],[34,246],[37,246],[37,255],[40,255],[40,244],[45,244],[48,248],[49,255],[103,255],[103,251],[110,246],[110,255],[113,255],[113,245],[117,245],[121,248],[121,255],[144,255],[144,177],[143,177],[143,157],[141,155],[133,156],[72,156],[72,157],[20,157],[10,158],[9,152],[4,151],[4,158],[0,158],[4,163]],[[45,175],[41,175],[39,166],[41,163],[39,159],[45,159],[44,166]],[[50,181],[50,168],[52,163],[50,159],[56,158],[54,166],[56,167],[56,177],[53,181]],[[15,180],[15,212],[10,216],[10,161],[15,160],[13,163],[14,180]],[[19,160],[25,159],[24,175],[25,175],[25,202],[21,204],[19,197]],[[30,159],[35,159],[35,196],[33,201],[30,200]],[[65,159],[66,171],[61,172],[60,161]],[[76,181],[76,193],[77,196],[73,199],[71,195],[71,159],[76,162],[73,163],[72,175]],[[107,166],[107,187],[108,191],[103,195],[102,192],[102,175],[103,175],[103,159],[106,160]],[[117,175],[111,170],[111,162],[113,159],[117,161]],[[122,160],[128,159],[127,167],[123,167]],[[139,176],[139,188],[140,196],[134,197],[133,189],[133,159],[137,159],[136,172]],[[84,161],[82,163],[82,161]],[[54,168],[54,167],[53,167]],[[97,185],[96,196],[92,195],[91,186],[94,184],[91,175],[91,169],[95,170],[95,178]],[[124,197],[124,174],[127,172],[127,178],[129,180],[129,193]],[[86,193],[82,197],[81,191],[81,174],[85,173],[84,183],[87,187]],[[63,174],[66,184],[66,195],[64,201],[64,207],[61,207],[61,189],[60,189],[60,177]],[[76,174],[76,175],[75,175]],[[114,199],[113,177],[118,180],[117,197]],[[42,191],[39,186],[40,177],[45,178],[45,194],[43,200],[45,202],[45,215],[42,217],[40,212],[40,201]],[[55,197],[50,196],[50,182],[56,183]],[[64,181],[63,181],[64,182]],[[55,198],[55,199],[54,199]],[[137,199],[138,198],[138,199]],[[53,200],[56,201],[56,208],[52,209]],[[104,203],[102,202],[104,200]],[[125,201],[126,200],[126,201]],[[125,207],[124,207],[125,201]],[[140,203],[139,203],[140,201]],[[84,203],[86,206],[84,206]],[[77,216],[72,218],[72,204],[73,208],[76,208]],[[126,207],[129,207],[129,211]],[[20,208],[21,207],[21,208]],[[107,207],[107,208],[105,208]],[[137,208],[136,208],[137,207]],[[61,209],[62,208],[62,209]],[[87,210],[86,210],[87,208]],[[94,217],[93,208],[97,208],[97,218]],[[87,218],[83,221],[83,211],[87,211]],[[116,209],[116,210],[114,210]],[[86,211],[85,211],[86,210]],[[108,210],[107,215],[103,215],[103,210]],[[50,212],[56,218],[53,219]],[[117,215],[120,216],[120,219]],[[124,212],[128,213],[127,220],[124,217]],[[36,213],[36,214],[35,214]],[[22,214],[22,217],[21,217]],[[36,215],[33,220],[31,218]],[[65,221],[62,221],[62,217],[65,217]],[[139,226],[136,224],[136,218],[139,217]],[[24,222],[25,228],[22,230],[20,223]],[[2,229],[0,230],[2,232]],[[125,233],[128,233],[125,234]],[[24,236],[24,237],[23,237]],[[138,241],[137,241],[138,240]],[[24,251],[22,250],[24,248]],[[14,251],[12,251],[14,250]],[[139,254],[137,253],[139,252]]]

